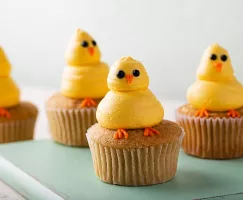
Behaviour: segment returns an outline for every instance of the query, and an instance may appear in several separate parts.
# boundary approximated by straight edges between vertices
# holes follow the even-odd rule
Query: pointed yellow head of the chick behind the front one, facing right
[[[65,54],[67,63],[74,66],[96,64],[100,57],[96,41],[88,33],[77,29]]]

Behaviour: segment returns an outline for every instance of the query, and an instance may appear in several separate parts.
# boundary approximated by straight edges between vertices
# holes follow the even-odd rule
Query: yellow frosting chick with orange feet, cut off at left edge
[[[13,79],[10,77],[11,65],[0,47],[0,116],[10,118],[8,107],[19,104],[20,91]]]

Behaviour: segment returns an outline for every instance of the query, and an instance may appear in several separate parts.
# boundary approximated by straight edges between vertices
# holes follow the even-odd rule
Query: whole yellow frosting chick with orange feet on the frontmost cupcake
[[[100,102],[96,117],[101,126],[118,129],[114,138],[128,138],[125,129],[145,128],[144,136],[159,134],[153,128],[163,120],[161,103],[148,89],[144,66],[131,57],[118,60],[108,75],[110,91]]]

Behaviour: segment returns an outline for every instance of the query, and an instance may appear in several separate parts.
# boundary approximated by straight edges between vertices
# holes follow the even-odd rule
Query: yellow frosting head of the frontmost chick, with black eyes
[[[149,77],[142,63],[123,57],[110,68],[107,83],[110,90],[128,92],[146,89]]]

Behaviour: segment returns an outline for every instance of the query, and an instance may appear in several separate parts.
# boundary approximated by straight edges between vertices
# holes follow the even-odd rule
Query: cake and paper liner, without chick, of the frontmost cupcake
[[[167,120],[154,127],[160,135],[144,137],[143,129],[128,130],[129,138],[114,140],[115,130],[92,126],[87,138],[96,175],[117,185],[152,185],[172,179],[184,131]]]

